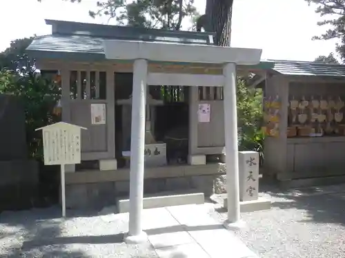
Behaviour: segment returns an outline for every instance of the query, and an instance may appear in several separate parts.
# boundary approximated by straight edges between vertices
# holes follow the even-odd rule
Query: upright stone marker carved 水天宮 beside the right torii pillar
[[[259,194],[259,153],[239,151],[239,200],[257,200]]]

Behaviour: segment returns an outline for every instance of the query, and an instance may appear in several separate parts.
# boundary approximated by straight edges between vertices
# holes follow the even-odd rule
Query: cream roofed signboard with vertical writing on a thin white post
[[[77,125],[57,122],[37,130],[43,131],[45,165],[60,165],[62,217],[66,217],[65,165],[81,162],[81,129]]]

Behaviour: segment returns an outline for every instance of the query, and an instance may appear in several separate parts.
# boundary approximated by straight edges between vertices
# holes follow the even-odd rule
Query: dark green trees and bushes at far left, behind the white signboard
[[[32,158],[42,158],[41,132],[34,129],[49,125],[57,118],[52,108],[60,96],[54,83],[41,78],[34,61],[24,54],[33,37],[12,41],[0,53],[0,94],[12,94],[21,99],[26,114],[26,140]]]

